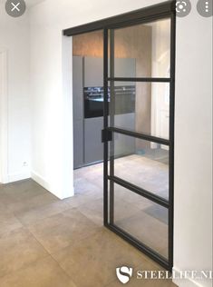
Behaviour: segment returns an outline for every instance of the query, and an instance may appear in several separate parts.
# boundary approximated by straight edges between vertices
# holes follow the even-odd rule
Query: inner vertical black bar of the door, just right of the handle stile
[[[110,76],[114,77],[114,30],[110,30]],[[114,114],[115,114],[115,94],[114,94],[114,82],[111,81],[111,100],[110,100],[110,125],[114,126]],[[114,176],[114,134],[112,134],[111,146],[111,176]],[[114,223],[114,183],[110,183],[110,223]]]

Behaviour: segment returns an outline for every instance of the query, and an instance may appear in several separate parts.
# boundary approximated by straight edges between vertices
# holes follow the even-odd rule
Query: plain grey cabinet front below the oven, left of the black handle
[[[103,160],[102,126],[102,117],[84,120],[85,163],[95,163]]]

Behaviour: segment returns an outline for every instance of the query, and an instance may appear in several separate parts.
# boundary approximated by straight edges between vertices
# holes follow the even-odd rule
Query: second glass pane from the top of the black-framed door
[[[169,83],[120,83],[110,95],[111,126],[169,139]]]

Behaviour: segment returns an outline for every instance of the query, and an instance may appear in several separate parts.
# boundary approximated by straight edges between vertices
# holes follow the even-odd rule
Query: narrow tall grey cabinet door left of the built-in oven
[[[73,166],[83,166],[82,57],[73,56]]]

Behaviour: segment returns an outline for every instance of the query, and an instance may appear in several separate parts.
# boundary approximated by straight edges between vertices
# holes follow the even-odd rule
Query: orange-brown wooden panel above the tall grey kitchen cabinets
[[[131,33],[128,33],[128,30]],[[101,31],[74,35],[73,55],[103,57],[103,34]],[[138,25],[116,30],[115,57],[144,59],[144,68],[151,68],[151,27]]]

